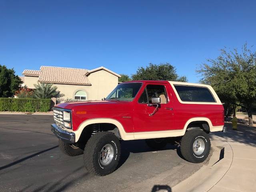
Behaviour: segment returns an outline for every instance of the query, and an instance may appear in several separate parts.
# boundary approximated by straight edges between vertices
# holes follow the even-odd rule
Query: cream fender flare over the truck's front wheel
[[[118,120],[115,120],[112,118],[93,118],[93,119],[88,119],[82,122],[79,125],[78,130],[74,131],[74,133],[76,134],[76,142],[78,142],[78,139],[80,138],[80,135],[82,134],[82,131],[84,130],[84,128],[86,128],[86,126],[90,124],[95,124],[95,123],[114,124],[118,128],[122,140],[134,140],[134,133],[126,133],[124,130],[124,127]]]

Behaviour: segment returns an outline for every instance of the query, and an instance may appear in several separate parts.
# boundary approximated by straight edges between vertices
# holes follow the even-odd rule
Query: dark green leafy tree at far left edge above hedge
[[[8,69],[5,65],[0,65],[0,97],[13,97],[20,88],[22,81],[15,75],[14,69]]]

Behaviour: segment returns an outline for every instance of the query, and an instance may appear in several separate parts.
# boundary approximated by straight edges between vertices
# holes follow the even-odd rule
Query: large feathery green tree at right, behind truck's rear
[[[218,58],[207,61],[197,71],[202,74],[201,82],[210,84],[226,105],[245,108],[252,126],[252,109],[256,103],[256,52],[244,44],[241,52],[225,48]]]

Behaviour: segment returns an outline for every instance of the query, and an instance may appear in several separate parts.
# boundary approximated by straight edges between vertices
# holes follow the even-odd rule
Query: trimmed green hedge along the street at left
[[[47,112],[51,99],[0,98],[0,111]]]

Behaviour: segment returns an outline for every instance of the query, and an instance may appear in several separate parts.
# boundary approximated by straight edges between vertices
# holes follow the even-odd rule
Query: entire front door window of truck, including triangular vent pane
[[[147,96],[148,93],[148,96]],[[144,92],[141,94],[139,103],[152,103],[151,99],[155,97],[161,98],[161,104],[167,103],[166,91],[163,85],[147,85]]]

